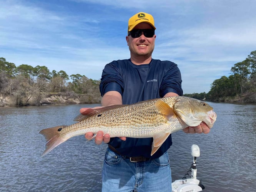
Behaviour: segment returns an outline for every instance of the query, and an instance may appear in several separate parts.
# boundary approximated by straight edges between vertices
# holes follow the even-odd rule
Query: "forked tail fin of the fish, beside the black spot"
[[[67,139],[60,136],[60,132],[66,126],[56,126],[48,129],[43,129],[39,133],[45,136],[47,141],[45,145],[45,151],[42,153],[40,157],[43,157],[48,152],[52,151],[55,147],[65,142]]]

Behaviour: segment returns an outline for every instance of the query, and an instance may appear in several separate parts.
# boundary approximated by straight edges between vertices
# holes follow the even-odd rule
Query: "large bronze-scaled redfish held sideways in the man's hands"
[[[201,122],[211,128],[216,118],[217,115],[209,104],[185,96],[170,96],[98,109],[89,108],[74,119],[78,121],[75,124],[40,131],[47,141],[45,151],[40,157],[71,137],[93,132],[95,138],[98,131],[108,133],[110,137],[153,137],[152,156],[171,133],[188,126],[198,126]]]

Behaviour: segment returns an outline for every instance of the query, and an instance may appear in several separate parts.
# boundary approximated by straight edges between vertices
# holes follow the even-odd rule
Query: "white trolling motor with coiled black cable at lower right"
[[[202,180],[196,179],[196,157],[200,156],[200,149],[198,145],[191,146],[191,155],[193,158],[193,164],[191,164],[190,170],[184,175],[180,180],[175,180],[172,182],[172,192],[198,192],[204,189],[202,185]],[[187,179],[191,172],[191,177]]]

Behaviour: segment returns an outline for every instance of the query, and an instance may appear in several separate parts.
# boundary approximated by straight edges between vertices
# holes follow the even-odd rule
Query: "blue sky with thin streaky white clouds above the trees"
[[[99,80],[130,58],[125,36],[138,12],[153,15],[152,58],[173,61],[183,93],[208,93],[256,50],[256,0],[0,0],[0,57]]]

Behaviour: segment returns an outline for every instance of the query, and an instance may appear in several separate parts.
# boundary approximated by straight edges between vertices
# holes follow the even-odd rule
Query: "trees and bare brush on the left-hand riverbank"
[[[68,81],[68,80],[72,81]],[[15,66],[0,58],[0,96],[9,97],[10,105],[39,105],[50,96],[77,98],[80,103],[100,103],[100,81],[85,75],[50,72],[47,66]]]

